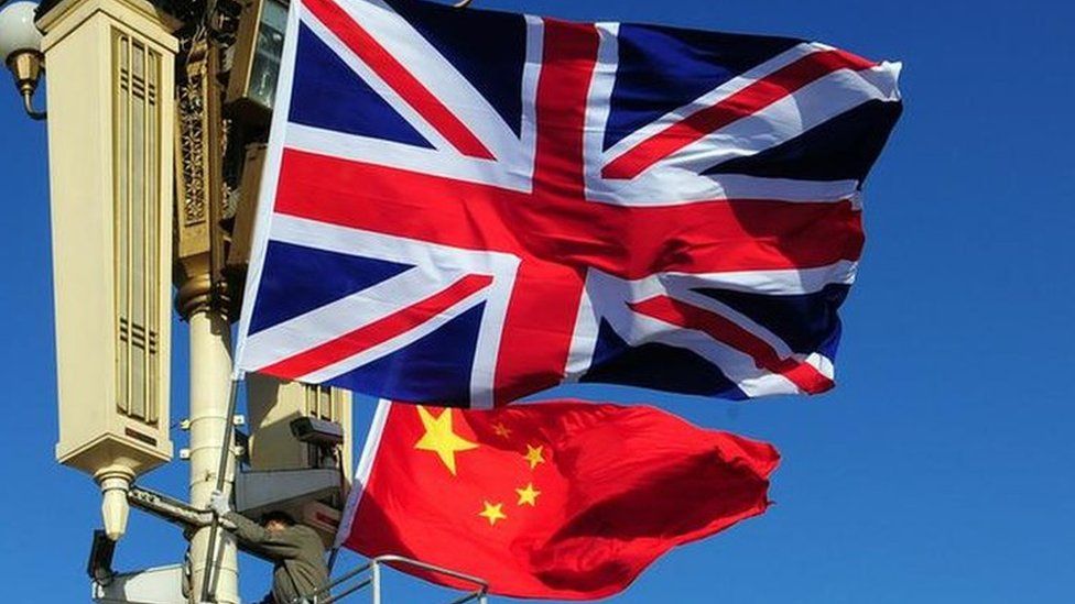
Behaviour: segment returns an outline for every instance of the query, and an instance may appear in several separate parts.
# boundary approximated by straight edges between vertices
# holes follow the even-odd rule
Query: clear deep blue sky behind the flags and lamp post
[[[779,505],[675,550],[615,601],[1069,602],[1075,9],[1041,0],[476,3],[794,35],[905,63],[905,112],[867,184],[869,240],[844,307],[836,391],[738,405],[584,391],[658,402],[784,455]],[[53,460],[45,130],[23,118],[6,79],[0,568],[9,595],[78,602],[89,593],[99,495]],[[186,407],[185,328],[175,333],[173,421]],[[357,411],[359,440],[370,408]],[[174,440],[182,447],[185,435]],[[186,476],[175,461],[144,483],[182,495]],[[171,563],[183,549],[176,529],[132,512],[117,567]],[[245,560],[243,573],[243,595],[263,593],[263,564]],[[390,590],[394,602],[428,593],[408,581]]]

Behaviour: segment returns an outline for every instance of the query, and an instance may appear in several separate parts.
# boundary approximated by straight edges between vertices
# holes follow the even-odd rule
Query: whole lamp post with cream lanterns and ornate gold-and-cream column
[[[184,7],[192,11],[187,23],[162,10],[161,0],[45,2],[0,10],[0,58],[28,114],[48,125],[56,459],[97,482],[105,531],[118,540],[129,502],[144,501],[134,480],[172,460],[174,285],[191,334],[191,415],[181,422],[189,430],[189,504],[178,502],[184,509],[172,517],[185,518],[191,537],[189,585],[180,597],[236,603],[235,539],[189,518],[205,509],[218,482],[230,491],[237,475],[235,449],[221,446],[234,429],[230,320],[248,255],[283,3],[246,2],[242,32],[228,37],[227,26],[214,31],[219,15],[206,17],[199,2]],[[237,24],[239,4],[209,4],[234,11],[222,21]],[[215,23],[209,36],[206,23]],[[229,73],[226,63],[241,68]],[[45,68],[47,116],[34,108]],[[240,152],[231,164],[229,150]],[[248,393],[251,463],[239,474],[248,505],[237,507],[285,507],[330,537],[332,521],[323,520],[338,517],[349,475],[349,403],[339,392],[256,378]],[[291,433],[298,417],[338,426],[338,442],[302,441]]]

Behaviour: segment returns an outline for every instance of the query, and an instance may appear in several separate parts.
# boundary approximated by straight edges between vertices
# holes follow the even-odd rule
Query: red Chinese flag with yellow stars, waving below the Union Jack
[[[620,592],[669,549],[761,514],[780,460],[651,407],[575,400],[382,403],[362,458],[345,546],[480,576],[497,594],[567,600]]]

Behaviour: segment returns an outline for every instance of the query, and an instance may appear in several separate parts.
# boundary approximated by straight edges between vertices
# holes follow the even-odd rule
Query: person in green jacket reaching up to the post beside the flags
[[[259,525],[232,512],[220,492],[209,497],[209,507],[236,526],[235,535],[241,542],[273,561],[272,594],[264,604],[301,602],[302,596],[328,584],[325,548],[314,529],[295,523],[284,512],[265,514]],[[328,594],[318,594],[318,600],[328,600]]]

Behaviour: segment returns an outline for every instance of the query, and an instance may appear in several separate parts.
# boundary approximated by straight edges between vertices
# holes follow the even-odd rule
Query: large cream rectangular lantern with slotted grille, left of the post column
[[[142,0],[65,0],[39,22],[48,161],[61,463],[104,492],[109,537],[169,437],[177,25]]]

